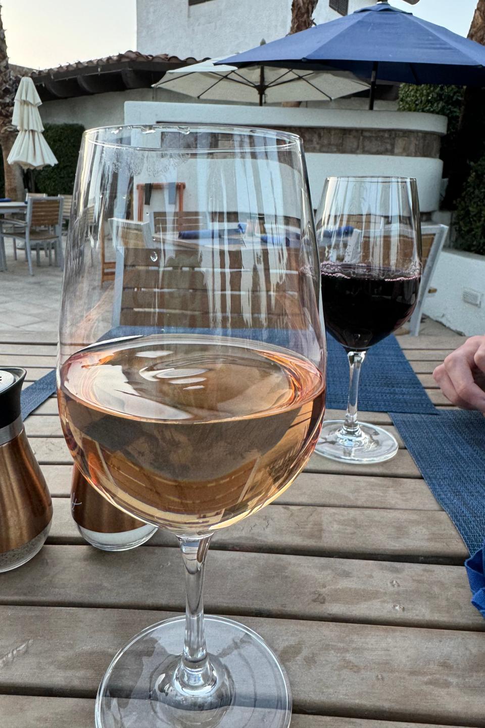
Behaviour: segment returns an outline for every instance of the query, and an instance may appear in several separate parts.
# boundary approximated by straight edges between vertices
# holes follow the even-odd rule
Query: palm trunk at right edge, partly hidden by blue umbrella
[[[468,38],[485,45],[485,0],[478,0]],[[454,207],[470,174],[470,162],[485,154],[485,90],[468,87],[463,98],[454,164],[449,175],[445,207]]]

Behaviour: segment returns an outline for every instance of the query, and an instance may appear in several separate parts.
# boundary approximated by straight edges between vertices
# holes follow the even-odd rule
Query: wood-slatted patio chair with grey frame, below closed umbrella
[[[7,223],[7,224],[6,224]],[[17,260],[17,248],[25,248],[28,272],[32,270],[32,248],[36,249],[37,265],[40,265],[40,251],[45,250],[52,263],[52,245],[55,251],[55,264],[63,265],[63,198],[62,197],[28,197],[25,221],[8,220],[0,223],[0,248],[4,254],[4,237],[9,235],[14,241],[14,257]]]

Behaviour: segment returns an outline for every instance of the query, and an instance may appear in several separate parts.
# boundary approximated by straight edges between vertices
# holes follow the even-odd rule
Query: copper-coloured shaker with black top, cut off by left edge
[[[30,561],[52,521],[49,490],[20,414],[25,374],[20,368],[0,370],[0,572]]]

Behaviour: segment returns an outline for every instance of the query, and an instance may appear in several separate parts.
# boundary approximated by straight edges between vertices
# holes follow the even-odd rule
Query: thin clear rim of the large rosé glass
[[[222,132],[233,137],[236,136],[251,136],[253,138],[261,137],[262,139],[273,139],[275,143],[262,143],[257,146],[239,146],[236,149],[228,149],[227,147],[215,147],[215,146],[203,146],[196,147],[194,149],[188,147],[180,147],[176,145],[173,147],[169,146],[137,146],[135,144],[126,143],[115,143],[108,138],[109,134],[120,134],[131,131],[140,130],[142,133],[151,134],[158,130],[165,132],[182,132],[184,135],[188,135],[191,132],[201,133],[217,133]],[[97,138],[97,136],[106,135],[107,138]],[[281,151],[285,147],[297,146],[300,147],[301,138],[297,134],[292,132],[282,132],[275,129],[268,129],[265,127],[254,127],[254,126],[233,126],[232,124],[170,124],[170,123],[155,123],[155,124],[118,124],[106,127],[93,127],[84,131],[84,138],[91,144],[96,146],[111,147],[112,149],[133,149],[140,151],[183,151],[190,152],[190,154],[199,154],[201,152],[207,153],[224,153],[231,154],[231,151],[261,151],[261,150],[278,150]],[[284,143],[276,143],[277,141]]]

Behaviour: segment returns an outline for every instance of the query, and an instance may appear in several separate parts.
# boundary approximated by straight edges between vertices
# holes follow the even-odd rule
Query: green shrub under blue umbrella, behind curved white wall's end
[[[448,117],[448,132],[441,140],[441,159],[444,177],[454,154],[465,89],[460,86],[412,86],[403,84],[399,90],[399,111],[422,111]]]

